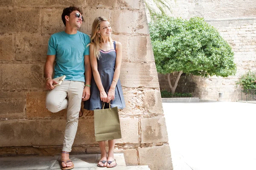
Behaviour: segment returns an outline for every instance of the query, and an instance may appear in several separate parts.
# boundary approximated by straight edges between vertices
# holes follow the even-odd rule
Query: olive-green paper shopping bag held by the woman
[[[105,108],[105,102],[102,109],[94,109],[94,130],[96,141],[106,141],[120,139],[121,128],[119,122],[118,108]]]

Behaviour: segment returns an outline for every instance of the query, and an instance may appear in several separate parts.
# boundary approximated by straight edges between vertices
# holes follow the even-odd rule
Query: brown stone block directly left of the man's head
[[[65,30],[65,26],[61,20],[62,11],[63,9],[41,9],[43,34],[54,34]]]

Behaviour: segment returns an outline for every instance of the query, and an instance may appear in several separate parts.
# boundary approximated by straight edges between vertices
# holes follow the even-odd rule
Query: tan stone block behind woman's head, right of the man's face
[[[108,2],[109,3],[109,2]],[[111,3],[109,3],[111,4]],[[92,25],[93,21],[95,20],[96,17],[102,16],[108,18],[110,20],[110,9],[96,9],[96,8],[84,8],[83,9],[84,13],[84,23],[82,24],[80,30],[81,32],[84,32],[85,34],[91,34],[92,32]],[[111,21],[110,21],[111,23]]]

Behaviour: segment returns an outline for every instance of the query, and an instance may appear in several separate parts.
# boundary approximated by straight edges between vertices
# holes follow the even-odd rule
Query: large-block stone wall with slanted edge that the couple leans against
[[[2,0],[0,2],[0,156],[61,152],[66,110],[45,108],[44,62],[51,34],[63,31],[64,7],[81,6],[90,34],[97,16],[110,18],[123,45],[120,80],[126,108],[119,112],[122,139],[115,152],[126,164],[171,169],[171,153],[143,0]],[[93,112],[85,111],[72,154],[99,153]],[[160,161],[159,158],[162,160]],[[154,161],[152,161],[154,160]]]

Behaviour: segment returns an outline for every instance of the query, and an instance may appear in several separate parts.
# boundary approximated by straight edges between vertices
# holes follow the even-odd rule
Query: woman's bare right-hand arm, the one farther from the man
[[[115,99],[115,88],[120,76],[121,63],[122,63],[122,44],[116,41],[116,66],[115,66],[113,81],[108,91],[108,100]]]

